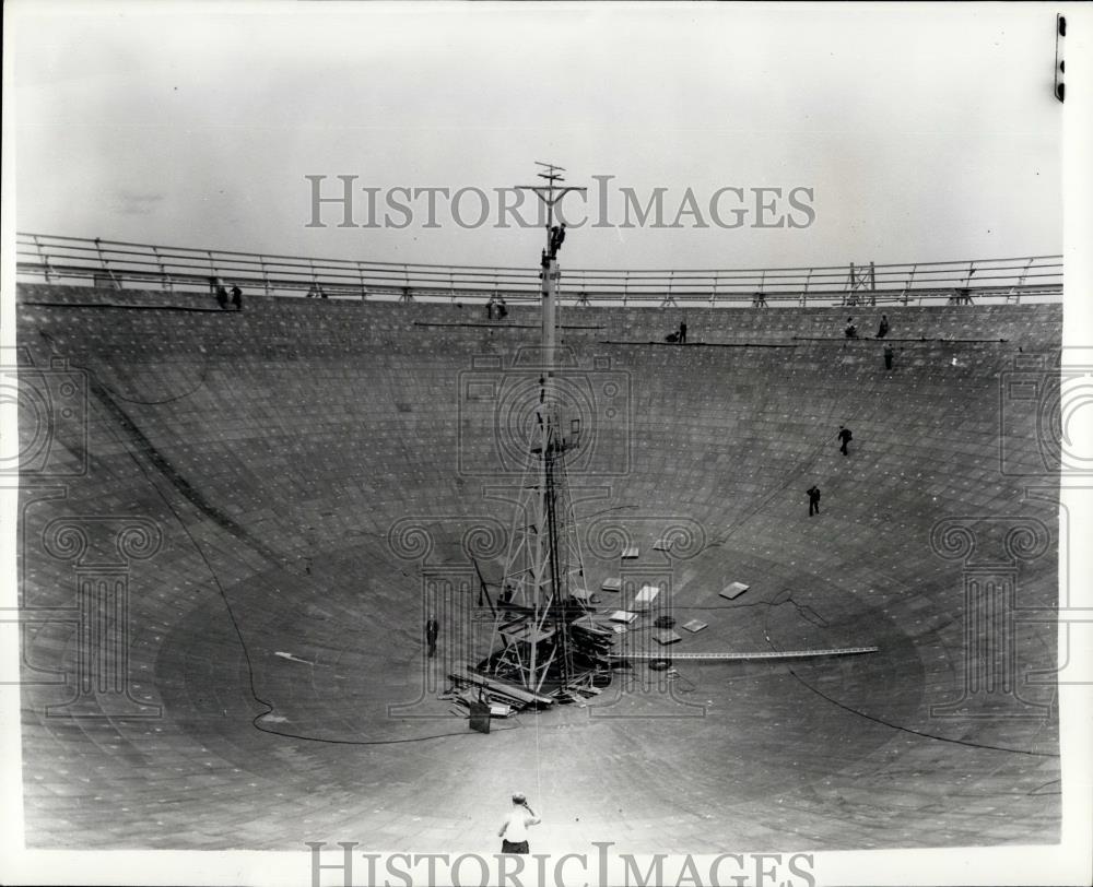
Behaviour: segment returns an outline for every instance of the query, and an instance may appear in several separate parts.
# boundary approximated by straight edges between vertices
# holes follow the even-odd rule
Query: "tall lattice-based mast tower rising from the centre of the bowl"
[[[542,328],[538,362],[538,399],[525,427],[529,438],[519,504],[513,519],[503,588],[495,614],[490,657],[479,671],[516,684],[529,702],[565,698],[587,684],[606,660],[596,638],[575,627],[585,616],[587,591],[573,504],[566,478],[566,452],[579,442],[579,422],[565,437],[557,397],[557,256],[565,223],[555,224],[554,206],[569,191],[561,167],[539,164],[544,185],[526,186],[546,209],[546,245],[540,255]]]

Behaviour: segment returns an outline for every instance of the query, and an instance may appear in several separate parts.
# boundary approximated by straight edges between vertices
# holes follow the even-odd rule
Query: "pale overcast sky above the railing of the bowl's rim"
[[[542,234],[495,227],[494,189],[552,161],[592,187],[587,209],[566,198],[571,215],[608,223],[572,232],[563,265],[1062,249],[1049,5],[39,2],[9,14],[24,232],[527,265]],[[327,227],[307,227],[306,176],[327,177],[328,197],[338,176],[356,176],[359,224],[361,188],[380,189],[378,226],[340,228],[328,204]],[[437,227],[425,227],[425,197],[402,197],[413,217],[396,229],[383,203],[396,187],[481,189],[490,218],[460,227],[438,196]],[[680,227],[633,214],[621,227],[620,189],[645,204],[657,187],[666,225],[694,196]],[[781,189],[765,192],[765,214],[756,188]],[[787,202],[795,188],[809,189],[796,194],[811,212]],[[715,224],[719,190],[721,221],[740,227]],[[473,223],[480,201],[465,194],[460,209]],[[786,227],[754,226],[779,217]]]

